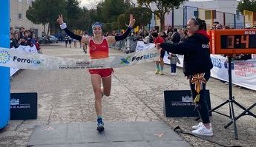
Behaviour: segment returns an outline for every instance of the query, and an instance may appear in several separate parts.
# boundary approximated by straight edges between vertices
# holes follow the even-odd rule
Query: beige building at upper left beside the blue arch
[[[10,27],[13,27],[14,30],[19,30],[20,27],[24,27],[25,30],[33,29],[36,35],[42,37],[44,31],[42,24],[33,24],[33,22],[29,21],[26,17],[26,11],[32,1],[33,0],[10,0]],[[47,25],[45,28],[47,29]]]

